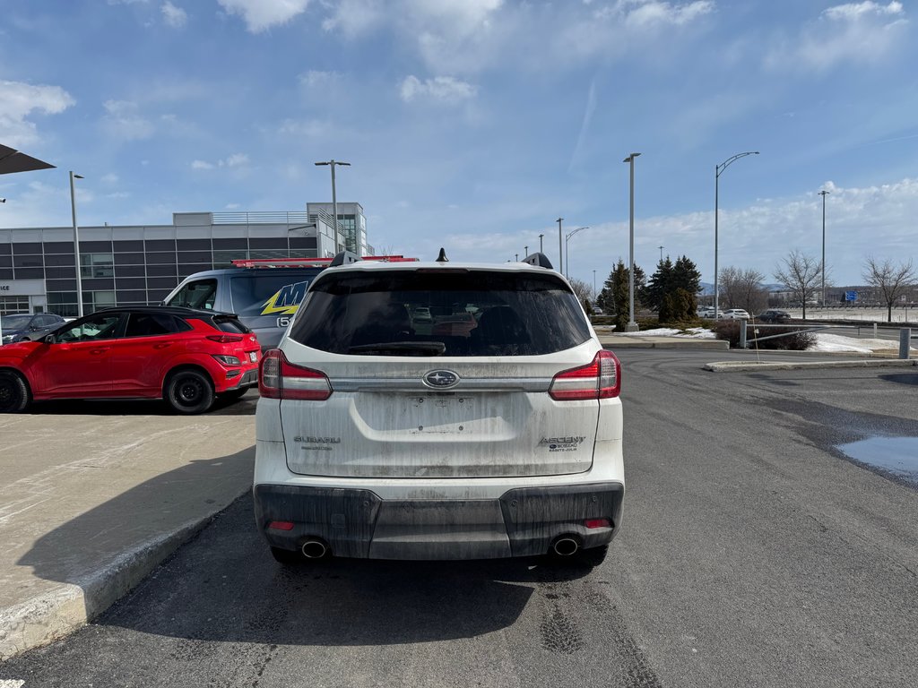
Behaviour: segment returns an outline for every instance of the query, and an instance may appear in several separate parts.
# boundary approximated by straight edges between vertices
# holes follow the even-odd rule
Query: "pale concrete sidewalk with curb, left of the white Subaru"
[[[114,415],[138,408],[0,416],[0,660],[106,610],[251,488],[254,416]]]

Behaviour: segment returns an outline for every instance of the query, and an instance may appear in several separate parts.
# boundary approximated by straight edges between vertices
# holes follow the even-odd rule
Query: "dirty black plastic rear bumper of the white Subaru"
[[[621,527],[621,483],[512,489],[498,499],[394,500],[370,490],[259,484],[255,519],[273,547],[321,538],[341,557],[462,560],[545,554],[554,539],[583,548],[610,542]],[[606,518],[609,527],[585,521]],[[273,521],[293,529],[269,528]]]

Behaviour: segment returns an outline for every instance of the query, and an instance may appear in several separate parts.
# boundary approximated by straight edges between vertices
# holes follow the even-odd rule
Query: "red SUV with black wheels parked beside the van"
[[[258,384],[258,339],[237,316],[169,306],[106,308],[0,347],[0,413],[47,399],[164,399],[207,411]]]

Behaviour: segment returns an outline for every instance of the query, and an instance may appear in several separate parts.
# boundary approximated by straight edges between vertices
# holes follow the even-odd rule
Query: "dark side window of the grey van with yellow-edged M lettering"
[[[229,279],[232,310],[239,316],[292,316],[319,271],[274,272],[264,268]]]

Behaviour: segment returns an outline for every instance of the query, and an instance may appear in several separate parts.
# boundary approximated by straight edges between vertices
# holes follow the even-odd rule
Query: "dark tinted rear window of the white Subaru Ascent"
[[[552,274],[344,272],[313,285],[290,337],[341,354],[533,356],[592,336]]]

